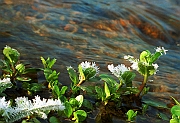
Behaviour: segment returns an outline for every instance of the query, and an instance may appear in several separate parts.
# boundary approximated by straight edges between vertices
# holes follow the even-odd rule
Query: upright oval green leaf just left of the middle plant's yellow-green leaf
[[[68,67],[67,71],[69,73],[69,77],[70,77],[71,81],[73,82],[73,84],[77,85],[79,82],[79,79],[78,79],[78,76],[77,76],[75,70],[71,67]]]

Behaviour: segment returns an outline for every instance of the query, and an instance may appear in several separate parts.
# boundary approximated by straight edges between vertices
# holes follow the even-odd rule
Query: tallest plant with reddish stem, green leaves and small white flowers
[[[159,67],[155,62],[157,59],[164,54],[166,54],[164,47],[157,47],[156,52],[153,54],[149,50],[145,50],[140,54],[139,59],[135,59],[133,56],[124,56],[124,59],[127,59],[132,63],[131,68],[138,71],[142,76],[144,76],[144,81],[142,82],[139,92],[136,94],[137,97],[140,96],[141,92],[143,91],[146,83],[148,81],[148,77],[151,75],[156,74],[158,71],[157,68]]]

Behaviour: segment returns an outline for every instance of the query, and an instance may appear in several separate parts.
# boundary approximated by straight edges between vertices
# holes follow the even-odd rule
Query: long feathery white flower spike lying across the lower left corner
[[[2,116],[6,118],[7,122],[14,122],[23,117],[37,114],[42,118],[47,118],[45,111],[50,110],[64,110],[65,106],[59,99],[40,99],[40,96],[35,96],[33,101],[28,100],[27,97],[17,97],[15,99],[16,107],[10,107],[9,103],[3,97],[0,99],[0,109],[4,110]]]

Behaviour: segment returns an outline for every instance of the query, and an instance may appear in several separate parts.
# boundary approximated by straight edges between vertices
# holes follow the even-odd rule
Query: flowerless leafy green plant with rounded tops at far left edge
[[[26,76],[28,73],[38,72],[40,69],[27,68],[28,64],[20,63],[20,53],[9,46],[3,49],[4,60],[0,61],[0,68],[3,76],[9,76],[11,82],[15,85],[15,81],[30,81],[31,78]]]

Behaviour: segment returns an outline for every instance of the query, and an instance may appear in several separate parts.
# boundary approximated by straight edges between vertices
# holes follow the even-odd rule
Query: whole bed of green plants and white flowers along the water
[[[3,71],[0,80],[0,94],[3,91],[8,93],[6,89],[12,87],[16,91],[17,88],[22,88],[27,92],[36,94],[37,91],[41,91],[42,87],[44,87],[53,99],[43,98],[41,100],[40,96],[35,96],[35,99],[31,101],[28,98],[32,98],[32,95],[23,97],[22,94],[22,97],[17,97],[15,94],[13,95],[15,98],[6,95],[6,101],[3,96],[0,98],[0,115],[2,116],[0,120],[4,118],[6,122],[14,122],[25,117],[29,119],[41,117],[49,119],[52,123],[61,118],[80,123],[86,120],[88,113],[92,110],[102,109],[96,117],[97,120],[99,120],[98,118],[102,119],[103,111],[107,113],[105,117],[111,118],[112,115],[108,114],[108,110],[111,110],[111,112],[118,112],[119,117],[126,116],[128,122],[134,121],[137,112],[142,112],[144,115],[148,108],[148,101],[144,101],[145,104],[141,107],[141,105],[137,104],[137,99],[141,103],[141,97],[149,89],[146,87],[148,78],[158,72],[159,66],[155,62],[167,52],[164,47],[157,47],[155,50],[155,53],[151,53],[149,50],[141,52],[139,59],[130,55],[124,56],[124,59],[132,63],[130,67],[124,64],[117,66],[109,64],[107,68],[112,75],[100,74],[99,67],[95,62],[81,62],[77,67],[77,71],[72,66],[68,66],[67,71],[71,84],[64,86],[59,82],[60,72],[53,70],[56,59],[41,57],[43,68],[27,68],[25,64],[19,61],[20,53],[6,46],[3,50],[4,59],[0,62]],[[138,71],[144,77],[140,87],[133,86],[132,82],[136,77],[133,70]],[[32,83],[31,78],[27,76],[27,73],[38,71],[43,71],[46,79],[45,83]],[[19,81],[22,83],[22,87],[18,87],[17,83]],[[93,84],[87,86],[85,83],[88,82]],[[46,84],[47,86],[42,86]],[[86,97],[91,98],[91,100],[86,99]],[[132,106],[135,104],[136,111]],[[53,110],[56,111],[55,114],[50,113]],[[178,111],[179,103],[171,109],[173,114],[171,123],[179,121]],[[113,115],[115,114],[113,113]]]

